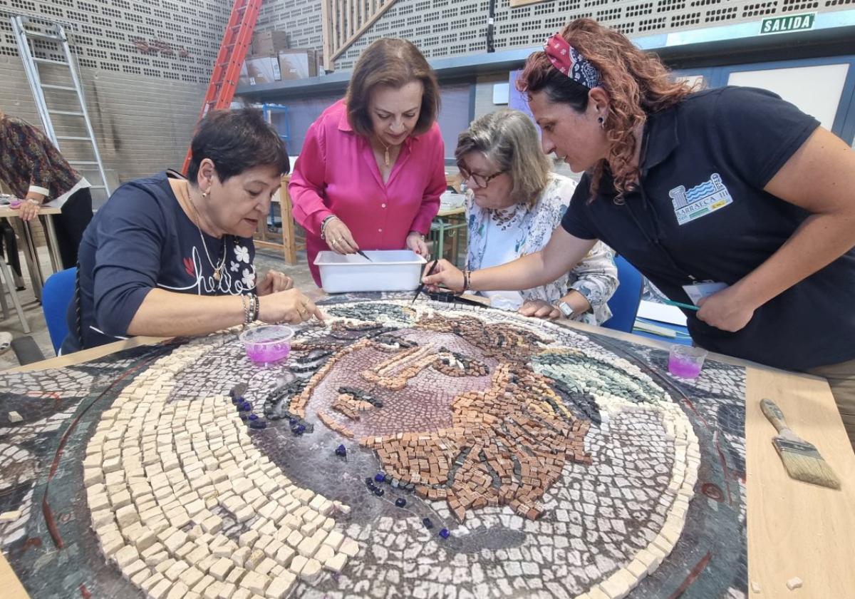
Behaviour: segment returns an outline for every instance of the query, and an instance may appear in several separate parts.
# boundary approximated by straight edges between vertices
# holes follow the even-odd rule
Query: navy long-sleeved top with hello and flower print
[[[219,264],[223,252],[225,268],[218,281],[211,261]],[[97,211],[80,241],[83,347],[126,338],[153,288],[197,295],[249,293],[256,287],[254,258],[250,238],[216,239],[200,232],[175,198],[167,173],[125,183]],[[67,321],[63,354],[81,349],[74,302]]]

